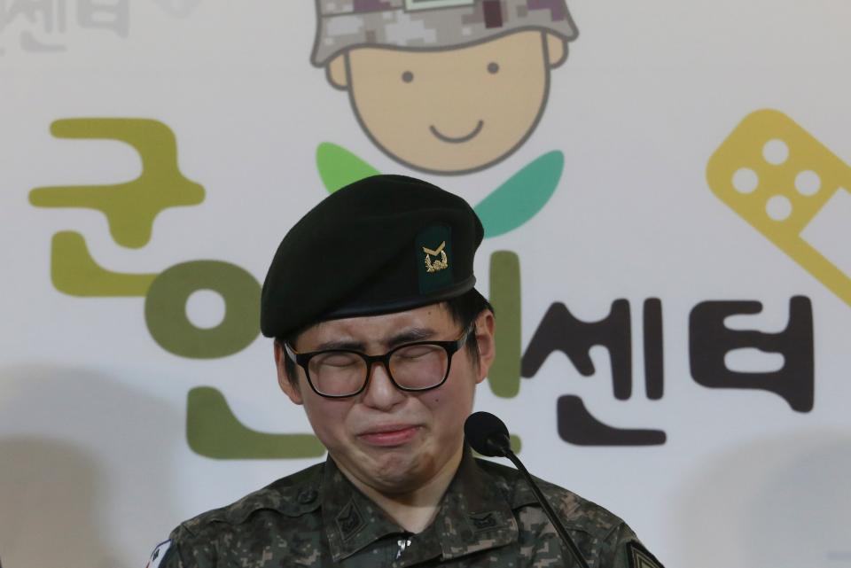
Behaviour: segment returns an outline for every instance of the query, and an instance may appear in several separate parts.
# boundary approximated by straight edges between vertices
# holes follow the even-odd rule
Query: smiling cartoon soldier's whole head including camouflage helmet
[[[576,29],[564,0],[317,0],[313,62],[394,160],[462,174],[532,133]]]

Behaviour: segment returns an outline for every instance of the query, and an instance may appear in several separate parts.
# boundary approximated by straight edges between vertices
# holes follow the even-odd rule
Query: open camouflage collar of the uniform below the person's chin
[[[441,499],[440,510],[423,533],[410,534],[360,492],[329,457],[321,481],[323,524],[334,562],[375,541],[395,536],[408,541],[398,563],[411,565],[440,557],[496,549],[518,539],[508,487],[482,471],[469,449]],[[517,503],[513,503],[516,505]]]

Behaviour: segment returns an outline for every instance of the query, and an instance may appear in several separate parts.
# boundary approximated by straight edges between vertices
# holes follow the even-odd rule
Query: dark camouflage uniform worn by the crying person
[[[591,568],[660,567],[618,517],[541,482]],[[553,567],[577,564],[519,473],[469,453],[432,525],[407,533],[329,458],[171,533],[160,567]]]

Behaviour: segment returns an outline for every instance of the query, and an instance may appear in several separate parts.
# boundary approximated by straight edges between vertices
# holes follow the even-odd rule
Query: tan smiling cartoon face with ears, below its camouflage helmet
[[[363,129],[386,153],[461,174],[525,142],[563,55],[560,39],[530,30],[447,51],[359,48],[332,62],[329,78],[349,89]]]

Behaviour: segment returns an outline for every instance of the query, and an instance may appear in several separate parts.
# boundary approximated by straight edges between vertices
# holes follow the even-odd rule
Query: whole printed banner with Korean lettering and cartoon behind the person
[[[381,172],[480,214],[498,356],[475,406],[529,470],[668,566],[851,566],[848,21],[0,1],[3,565],[141,567],[323,459],[262,278],[293,222]]]

